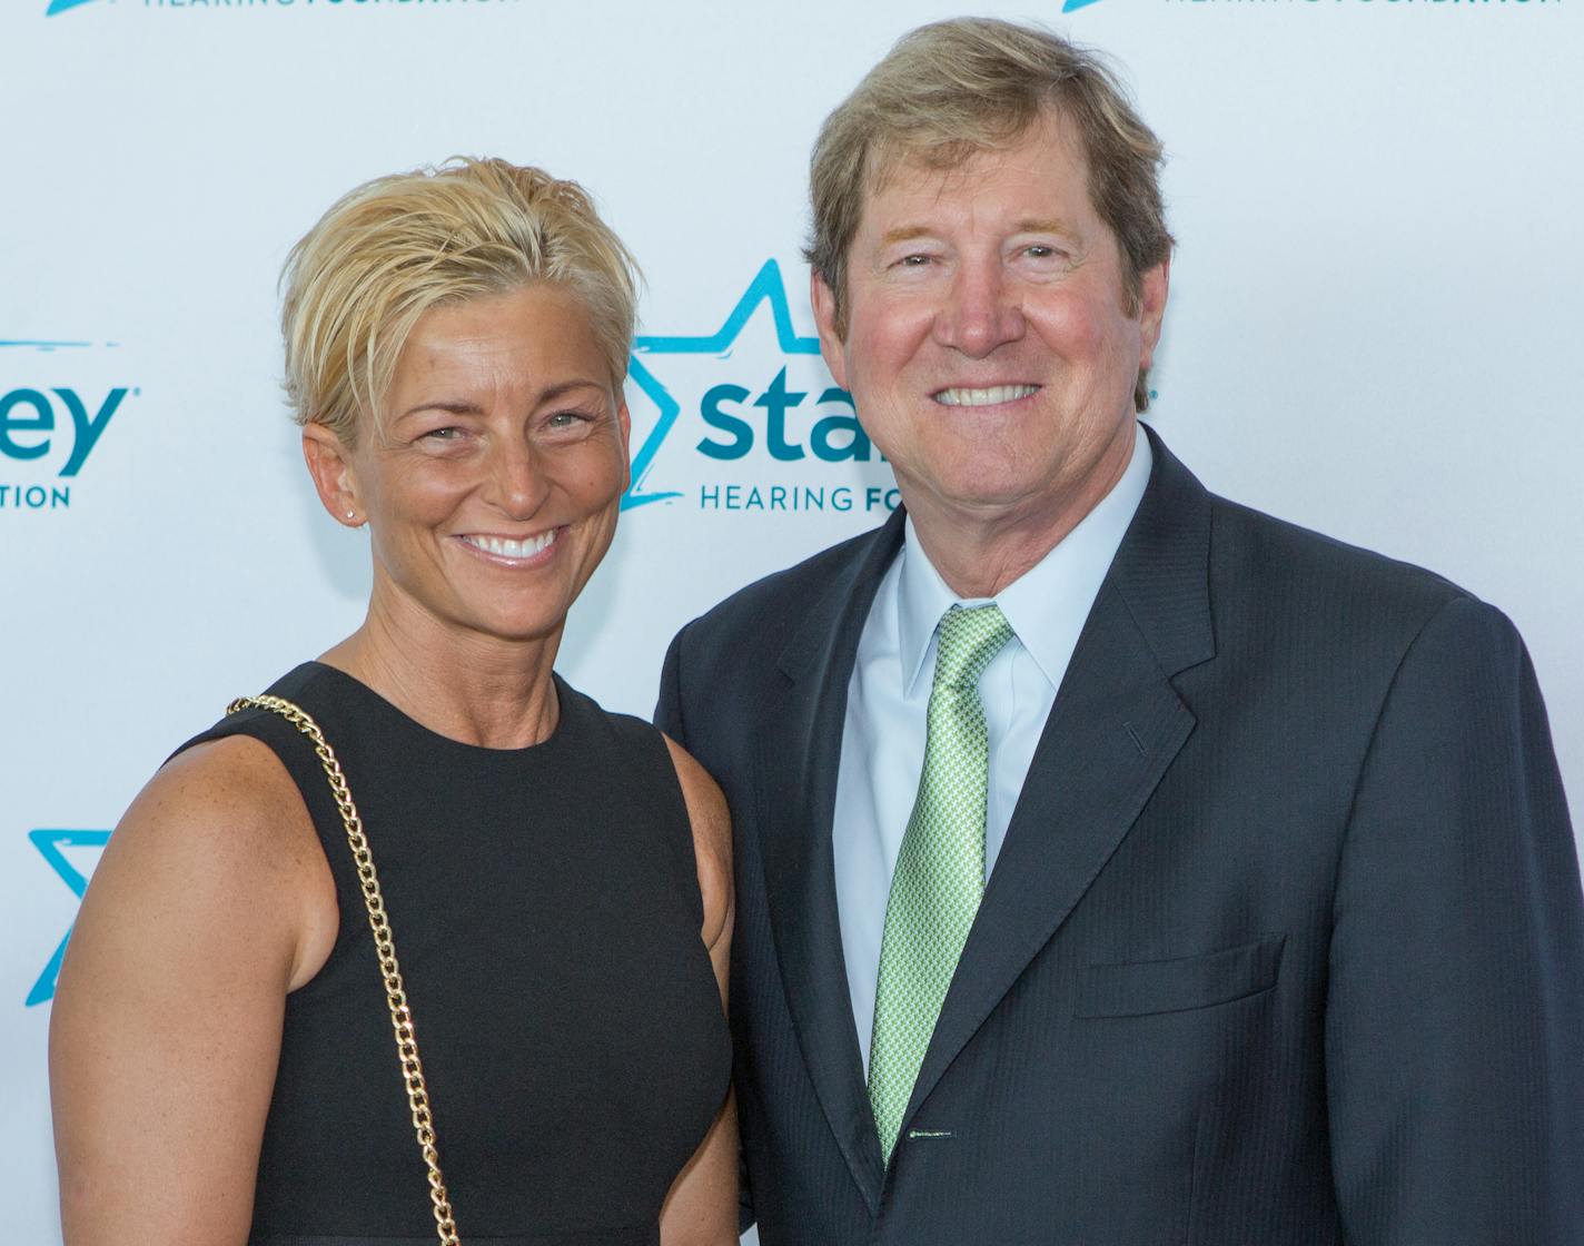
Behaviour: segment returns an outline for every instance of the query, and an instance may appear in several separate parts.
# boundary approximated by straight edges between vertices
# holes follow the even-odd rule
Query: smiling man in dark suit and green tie
[[[814,152],[904,511],[678,635],[738,830],[763,1246],[1584,1243],[1584,921],[1506,619],[1136,418],[1159,146],[1069,44],[904,38]]]

